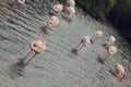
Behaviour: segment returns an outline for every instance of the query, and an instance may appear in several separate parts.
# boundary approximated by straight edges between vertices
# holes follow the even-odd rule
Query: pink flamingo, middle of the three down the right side
[[[107,49],[107,53],[105,53],[102,58],[102,60],[103,61],[105,61],[106,60],[106,58],[108,58],[109,55],[112,55],[112,54],[115,54],[115,53],[117,53],[117,47],[115,47],[115,46],[109,46],[109,48]]]

